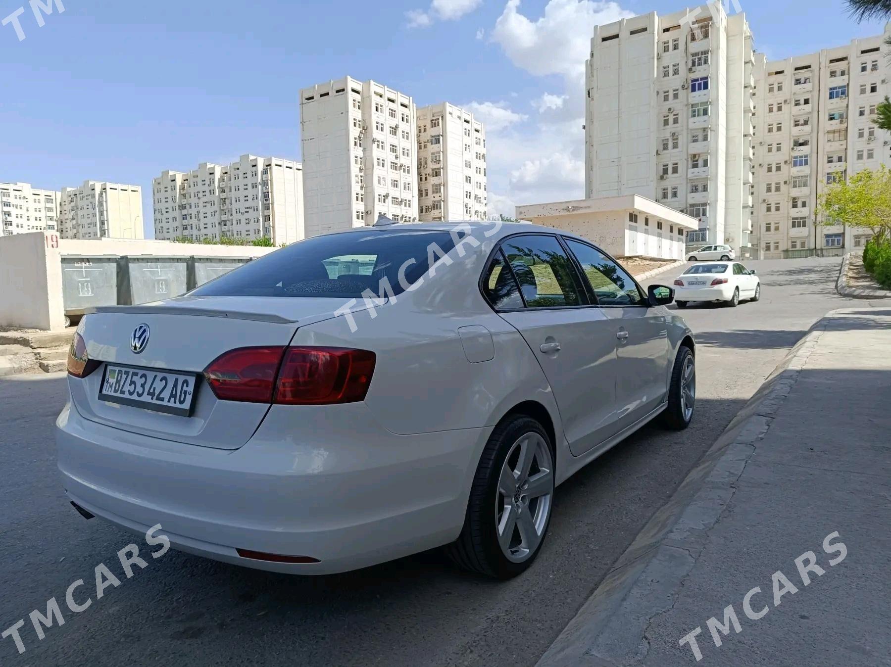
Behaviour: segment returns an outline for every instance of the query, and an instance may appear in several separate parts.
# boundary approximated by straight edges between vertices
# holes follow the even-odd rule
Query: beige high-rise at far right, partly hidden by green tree
[[[829,183],[891,164],[891,134],[875,119],[876,106],[891,94],[887,37],[891,23],[883,36],[756,62],[754,219],[763,256],[856,249],[871,236],[862,228],[816,224],[822,222],[816,206]]]

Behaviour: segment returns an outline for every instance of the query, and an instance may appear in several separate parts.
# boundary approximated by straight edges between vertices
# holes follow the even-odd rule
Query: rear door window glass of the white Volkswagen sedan
[[[502,249],[529,308],[582,305],[576,271],[554,236],[528,234],[505,240]]]

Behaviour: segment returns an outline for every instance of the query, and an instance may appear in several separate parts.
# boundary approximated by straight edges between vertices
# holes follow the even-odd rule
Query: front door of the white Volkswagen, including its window
[[[584,241],[565,238],[586,287],[606,315],[617,340],[617,431],[634,424],[666,400],[668,321],[615,260]]]

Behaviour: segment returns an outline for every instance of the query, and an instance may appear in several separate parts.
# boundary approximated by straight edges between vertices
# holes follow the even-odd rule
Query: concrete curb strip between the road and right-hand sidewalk
[[[677,591],[736,492],[756,443],[795,386],[828,326],[827,313],[798,341],[732,419],[666,505],[644,525],[591,598],[536,667],[618,667],[642,663],[651,620],[674,606]]]

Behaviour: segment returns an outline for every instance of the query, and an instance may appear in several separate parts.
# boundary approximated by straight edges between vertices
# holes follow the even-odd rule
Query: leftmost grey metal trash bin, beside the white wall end
[[[117,255],[61,256],[61,297],[67,322],[86,308],[118,303],[118,259]]]

